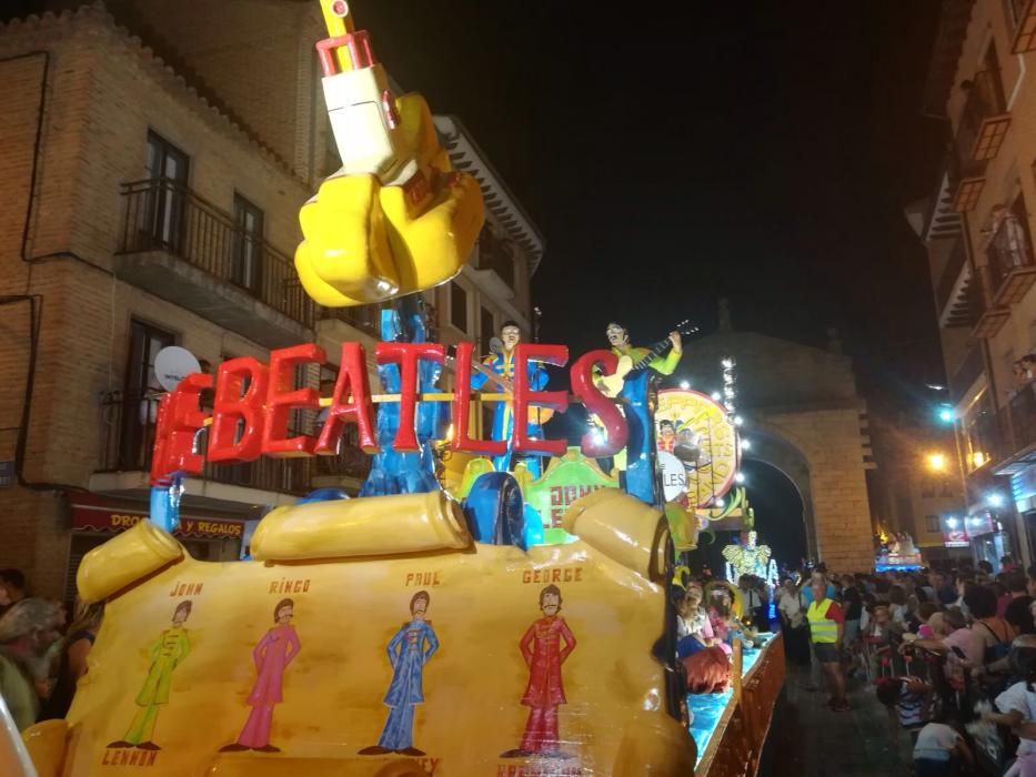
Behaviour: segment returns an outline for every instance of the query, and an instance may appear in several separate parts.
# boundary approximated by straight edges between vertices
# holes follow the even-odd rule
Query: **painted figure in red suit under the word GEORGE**
[[[522,746],[501,753],[501,758],[521,758],[530,755],[565,758],[557,737],[557,707],[566,704],[561,679],[561,665],[575,649],[575,637],[569,629],[561,610],[561,589],[549,585],[540,592],[543,617],[536,620],[519,643],[522,657],[529,666],[529,685],[522,704],[530,707],[529,722],[522,736]],[[561,646],[564,639],[565,646]]]

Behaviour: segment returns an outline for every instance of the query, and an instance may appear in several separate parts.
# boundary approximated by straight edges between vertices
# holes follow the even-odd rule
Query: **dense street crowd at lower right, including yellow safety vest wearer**
[[[909,731],[914,774],[1036,777],[1036,565],[1010,557],[924,572],[833,575],[775,592],[788,660],[834,712],[847,678]]]

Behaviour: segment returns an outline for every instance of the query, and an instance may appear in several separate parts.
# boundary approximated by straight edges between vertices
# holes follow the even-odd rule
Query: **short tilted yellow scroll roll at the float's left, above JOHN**
[[[90,551],[79,566],[76,585],[83,602],[100,602],[181,558],[180,543],[150,521],[141,521]]]

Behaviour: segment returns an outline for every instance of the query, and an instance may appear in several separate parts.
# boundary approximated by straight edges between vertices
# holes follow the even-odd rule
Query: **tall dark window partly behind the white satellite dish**
[[[151,463],[158,395],[164,390],[154,373],[154,356],[177,337],[141,321],[130,323],[130,349],[122,392],[119,468],[145,470]]]

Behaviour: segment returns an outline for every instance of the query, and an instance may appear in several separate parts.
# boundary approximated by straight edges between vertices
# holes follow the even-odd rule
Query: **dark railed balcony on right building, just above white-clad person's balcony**
[[[975,73],[950,154],[950,189],[957,212],[975,208],[985,186],[986,164],[999,152],[1009,125],[999,71]]]

